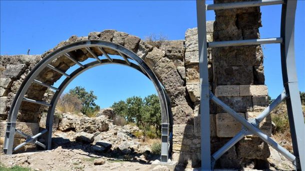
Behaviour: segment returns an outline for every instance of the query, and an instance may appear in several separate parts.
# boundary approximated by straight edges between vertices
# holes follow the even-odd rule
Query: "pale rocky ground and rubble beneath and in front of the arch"
[[[159,155],[151,150],[151,144],[160,140],[135,137],[135,133],[141,132],[138,127],[117,126],[109,118],[111,110],[95,118],[62,114],[54,126],[53,150],[2,153],[0,163],[8,168],[21,166],[34,171],[169,171],[157,164]],[[271,147],[270,153],[270,170],[293,170],[290,162]]]

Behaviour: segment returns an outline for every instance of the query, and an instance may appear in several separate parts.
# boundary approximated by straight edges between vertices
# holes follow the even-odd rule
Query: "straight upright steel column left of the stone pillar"
[[[197,26],[200,75],[200,130],[201,130],[201,171],[211,170],[210,128],[209,128],[209,89],[207,72],[207,43],[205,0],[197,0]]]

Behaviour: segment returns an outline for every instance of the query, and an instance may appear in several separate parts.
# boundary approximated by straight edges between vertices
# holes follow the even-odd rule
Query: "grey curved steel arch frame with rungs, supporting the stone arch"
[[[99,59],[96,54],[93,53],[93,51],[90,50],[90,47],[97,47],[102,54],[107,58],[107,59]],[[104,51],[103,48],[108,48],[116,51],[118,54],[120,54],[124,60],[120,59],[112,59],[108,56],[108,54]],[[69,55],[70,51],[77,50],[77,49],[86,49],[92,57],[96,59],[96,61],[90,62],[88,64],[82,65],[78,61],[76,61],[72,56]],[[69,58],[71,61],[73,61],[75,64],[79,65],[80,67],[77,68],[75,71],[73,71],[70,75],[64,73],[63,71],[60,71],[59,69],[53,67],[50,65],[50,63],[60,57],[60,56],[65,56]],[[127,58],[134,60],[137,64],[130,62]],[[160,106],[161,106],[161,123],[162,123],[162,137],[161,137],[161,157],[160,161],[162,163],[167,163],[168,159],[171,157],[171,139],[169,139],[169,135],[172,135],[172,116],[171,116],[171,107],[170,107],[170,100],[164,90],[164,87],[162,84],[158,81],[157,77],[153,73],[153,71],[148,67],[148,65],[140,58],[138,57],[135,53],[132,51],[128,50],[127,48],[112,43],[112,42],[107,42],[103,40],[83,40],[83,41],[78,41],[74,43],[70,43],[68,45],[65,45],[63,47],[60,47],[56,49],[55,51],[51,52],[48,54],[46,57],[44,57],[40,62],[36,64],[36,66],[29,72],[29,74],[26,76],[24,81],[21,83],[21,86],[19,90],[17,91],[15,98],[12,102],[9,115],[7,118],[7,124],[6,124],[6,132],[5,132],[5,141],[4,141],[4,147],[3,147],[3,152],[10,155],[14,151],[18,150],[22,146],[24,146],[27,143],[34,142],[35,144],[41,146],[44,149],[51,149],[51,135],[52,135],[52,121],[53,121],[53,115],[55,111],[55,106],[56,103],[62,94],[63,90],[66,88],[66,86],[79,74],[82,72],[98,66],[98,65],[104,65],[104,64],[120,64],[120,65],[125,65],[129,66],[131,68],[134,68],[138,70],[139,72],[143,73],[148,79],[152,81],[154,84],[159,101],[160,101]],[[50,69],[53,69],[54,71],[61,73],[62,75],[66,76],[66,78],[63,80],[63,82],[60,84],[58,88],[53,87],[51,85],[47,85],[45,83],[42,83],[41,81],[36,80],[35,78],[38,76],[38,74],[45,68],[49,67]],[[27,99],[24,98],[25,93],[27,92],[27,89],[29,86],[32,84],[39,84],[48,88],[51,88],[55,90],[55,93],[51,99],[51,102],[45,103],[45,102],[40,102],[32,99]],[[37,135],[34,136],[28,136],[19,130],[16,130],[16,118],[17,118],[17,113],[20,108],[21,102],[26,101],[30,103],[36,103],[39,105],[45,105],[48,106],[48,112],[47,112],[47,117],[46,117],[46,127],[45,130],[42,132],[38,133]],[[22,137],[27,138],[27,140],[18,145],[17,147],[13,148],[13,141],[14,141],[14,134],[20,134]],[[37,137],[41,136],[42,134],[45,134],[45,144],[43,145],[42,143],[38,142],[36,139]]]

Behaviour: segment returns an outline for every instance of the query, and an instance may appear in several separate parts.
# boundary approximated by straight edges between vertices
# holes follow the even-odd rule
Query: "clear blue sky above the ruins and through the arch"
[[[207,0],[212,3],[212,0]],[[261,38],[279,37],[280,5],[262,6]],[[305,91],[305,1],[296,10],[295,55],[299,88]],[[207,20],[214,12],[207,11]],[[0,1],[0,54],[41,54],[71,35],[116,29],[144,38],[162,33],[184,39],[196,27],[195,1]],[[275,98],[282,90],[279,45],[264,46],[265,84]],[[75,69],[75,68],[74,68]],[[71,70],[69,70],[70,72]],[[58,84],[58,83],[57,83]],[[92,68],[67,87],[93,90],[102,108],[114,101],[155,93],[152,83],[139,72],[118,65]]]

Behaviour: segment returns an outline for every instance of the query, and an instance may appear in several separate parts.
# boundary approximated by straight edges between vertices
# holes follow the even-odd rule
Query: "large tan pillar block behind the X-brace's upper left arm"
[[[244,113],[238,113],[245,118]],[[241,124],[228,113],[216,114],[217,137],[234,137],[241,130]]]

